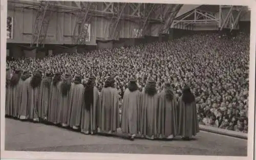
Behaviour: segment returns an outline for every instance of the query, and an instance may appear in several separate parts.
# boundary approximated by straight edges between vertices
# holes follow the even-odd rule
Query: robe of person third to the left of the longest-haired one
[[[50,104],[48,107],[48,121],[55,124],[57,123],[59,92],[60,81],[57,82],[56,85],[53,85],[52,82],[50,90]]]

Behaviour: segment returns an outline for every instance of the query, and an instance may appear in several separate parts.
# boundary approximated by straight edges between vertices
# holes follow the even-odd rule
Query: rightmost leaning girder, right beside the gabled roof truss
[[[170,8],[167,12],[164,20],[164,24],[161,26],[160,33],[167,33],[171,25],[173,24],[173,21],[175,19],[175,16],[180,11],[180,8],[182,5],[175,5],[174,7]]]

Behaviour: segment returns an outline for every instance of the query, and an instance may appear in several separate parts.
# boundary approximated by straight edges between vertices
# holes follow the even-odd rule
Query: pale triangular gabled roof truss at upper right
[[[177,25],[181,25],[186,28],[189,25],[194,24],[216,24],[218,25],[219,19],[211,12],[194,9],[178,18],[176,18],[172,24],[172,28],[177,28]],[[188,27],[190,28],[190,27]]]

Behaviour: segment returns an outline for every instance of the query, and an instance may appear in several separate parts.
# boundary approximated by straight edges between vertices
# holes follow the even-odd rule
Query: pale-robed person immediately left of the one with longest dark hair
[[[72,82],[70,94],[70,127],[73,129],[78,129],[81,125],[81,113],[83,106],[83,91],[84,87],[81,84],[82,78],[80,75],[76,75],[74,81]]]

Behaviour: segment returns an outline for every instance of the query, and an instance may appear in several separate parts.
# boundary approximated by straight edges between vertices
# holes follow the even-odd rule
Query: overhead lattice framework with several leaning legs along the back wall
[[[182,5],[175,4],[111,2],[72,2],[72,5],[58,1],[9,0],[8,2],[26,4],[31,8],[39,6],[31,40],[31,45],[36,46],[44,44],[52,12],[76,15],[75,29],[71,35],[72,42],[74,44],[85,44],[89,36],[87,30],[90,25],[88,24],[90,24],[92,17],[109,19],[110,25],[105,26],[109,30],[105,33],[109,34],[105,35],[105,39],[117,39],[119,37],[120,20],[134,21],[139,26],[137,37],[141,37],[145,35],[150,24],[160,25],[160,33],[166,33],[182,7]],[[103,4],[103,7],[97,7],[99,4]]]

